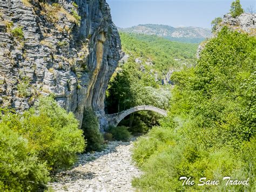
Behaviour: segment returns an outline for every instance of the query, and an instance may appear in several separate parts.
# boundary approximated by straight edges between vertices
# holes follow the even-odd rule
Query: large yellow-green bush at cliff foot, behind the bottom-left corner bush
[[[46,162],[51,172],[70,167],[85,148],[77,119],[51,97],[39,99],[38,107],[22,115],[4,115],[0,125],[28,139],[29,153]]]

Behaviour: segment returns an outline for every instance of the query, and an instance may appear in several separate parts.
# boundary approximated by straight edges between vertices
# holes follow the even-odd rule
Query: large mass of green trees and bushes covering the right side
[[[133,159],[144,175],[134,186],[255,191],[255,45],[255,37],[224,27],[205,45],[196,67],[172,74],[169,116],[136,143]],[[196,184],[183,186],[180,176]],[[250,184],[226,185],[225,176]],[[220,183],[198,186],[201,177]]]

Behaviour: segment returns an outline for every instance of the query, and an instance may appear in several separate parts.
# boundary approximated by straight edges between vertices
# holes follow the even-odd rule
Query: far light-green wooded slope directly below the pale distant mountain
[[[123,51],[133,58],[145,63],[147,68],[157,72],[180,68],[181,65],[195,64],[195,54],[198,44],[179,43],[154,35],[139,35],[136,33],[120,33]]]

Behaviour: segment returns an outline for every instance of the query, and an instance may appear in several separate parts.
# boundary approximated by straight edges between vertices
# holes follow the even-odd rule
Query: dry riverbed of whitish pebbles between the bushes
[[[102,152],[79,155],[78,163],[49,183],[55,191],[134,191],[133,177],[140,172],[131,161],[133,141],[109,142]]]

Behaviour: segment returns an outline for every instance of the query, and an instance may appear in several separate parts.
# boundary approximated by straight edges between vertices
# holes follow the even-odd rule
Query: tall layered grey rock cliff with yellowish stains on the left
[[[120,38],[105,0],[74,2],[0,0],[1,107],[53,94],[80,121],[85,107],[104,115]]]

